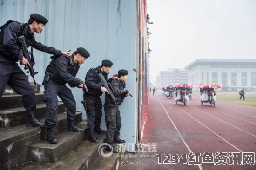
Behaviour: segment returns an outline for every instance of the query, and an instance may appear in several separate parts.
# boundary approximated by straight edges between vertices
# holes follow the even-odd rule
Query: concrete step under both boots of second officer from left
[[[86,129],[87,124],[77,124],[78,127]],[[85,139],[86,131],[69,133],[63,131],[55,137],[58,143],[49,144],[46,140],[41,140],[29,145],[29,160],[34,162],[55,163],[81,144]]]

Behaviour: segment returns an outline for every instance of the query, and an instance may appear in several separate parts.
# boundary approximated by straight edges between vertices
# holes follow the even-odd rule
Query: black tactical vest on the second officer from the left
[[[74,63],[74,54],[72,54],[72,57],[68,57],[67,55],[61,55],[61,56],[65,56],[68,58],[67,72],[75,77],[80,66],[79,66],[79,64]],[[45,73],[46,74],[48,73],[50,75],[50,78],[55,83],[60,84],[60,85],[65,85],[67,82],[60,77],[60,75],[57,71],[56,59],[58,57],[60,57],[60,55],[56,55],[55,57],[53,57],[51,63],[47,66]]]

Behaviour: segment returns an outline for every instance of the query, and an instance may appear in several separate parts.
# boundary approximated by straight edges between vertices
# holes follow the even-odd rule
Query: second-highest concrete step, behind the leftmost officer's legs
[[[36,104],[44,103],[43,93],[35,93]],[[0,110],[23,107],[22,96],[19,94],[3,95],[0,100]]]

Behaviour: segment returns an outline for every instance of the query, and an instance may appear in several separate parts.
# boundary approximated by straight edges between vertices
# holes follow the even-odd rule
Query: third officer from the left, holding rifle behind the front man
[[[100,96],[103,92],[107,92],[107,89],[103,87],[101,79],[97,76],[102,73],[106,81],[108,82],[108,73],[113,63],[105,59],[101,62],[101,66],[91,68],[85,77],[85,84],[88,88],[88,92],[84,92],[84,104],[86,105],[87,115],[87,127],[89,131],[89,140],[92,143],[99,143],[99,139],[95,137],[94,130],[97,133],[106,133],[101,130],[101,116],[102,116],[102,102]]]

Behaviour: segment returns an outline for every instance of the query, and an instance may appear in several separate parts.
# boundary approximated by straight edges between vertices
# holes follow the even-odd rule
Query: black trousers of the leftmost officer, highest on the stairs
[[[28,82],[25,73],[14,61],[0,57],[0,99],[6,84],[22,95],[23,106],[27,111],[36,110],[34,90]]]

